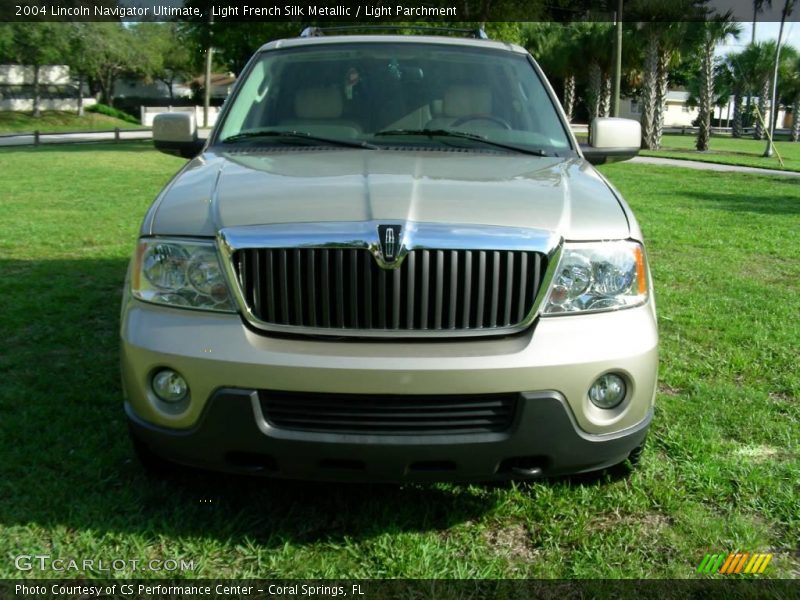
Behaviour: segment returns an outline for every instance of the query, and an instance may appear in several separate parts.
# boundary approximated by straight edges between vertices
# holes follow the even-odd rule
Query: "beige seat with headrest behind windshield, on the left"
[[[342,118],[344,100],[338,85],[301,88],[294,96],[294,117],[283,119],[281,126],[309,133],[355,137],[361,128]]]

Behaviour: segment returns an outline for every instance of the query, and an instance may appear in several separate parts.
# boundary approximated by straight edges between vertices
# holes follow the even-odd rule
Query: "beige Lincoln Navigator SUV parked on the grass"
[[[319,32],[314,32],[319,34]],[[149,465],[321,480],[536,478],[636,457],[658,334],[642,234],[521,47],[263,46],[147,212],[122,381]],[[588,159],[588,160],[587,160]]]

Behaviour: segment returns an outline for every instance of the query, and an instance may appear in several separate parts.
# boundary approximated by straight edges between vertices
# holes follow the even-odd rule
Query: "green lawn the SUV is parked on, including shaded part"
[[[638,215],[657,286],[661,383],[638,470],[398,489],[159,480],[135,462],[120,288],[140,219],[181,164],[147,144],[0,151],[0,578],[55,575],[18,573],[20,554],[194,561],[185,577],[682,578],[732,550],[800,574],[795,182],[603,169]]]

